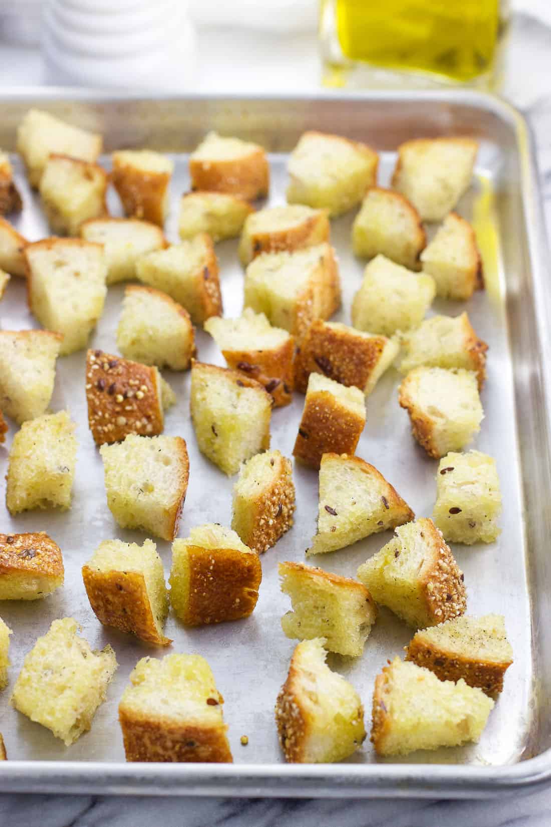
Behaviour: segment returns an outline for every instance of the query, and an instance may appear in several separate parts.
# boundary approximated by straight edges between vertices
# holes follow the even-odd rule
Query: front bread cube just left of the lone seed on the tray
[[[119,704],[126,761],[232,761],[224,699],[203,657],[142,657],[130,679]]]

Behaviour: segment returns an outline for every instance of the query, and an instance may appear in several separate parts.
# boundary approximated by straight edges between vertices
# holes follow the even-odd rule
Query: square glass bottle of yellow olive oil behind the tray
[[[492,88],[503,0],[321,0],[324,82]]]

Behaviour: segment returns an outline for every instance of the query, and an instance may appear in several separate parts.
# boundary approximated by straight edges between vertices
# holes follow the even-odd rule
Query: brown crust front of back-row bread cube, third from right
[[[256,147],[249,155],[226,160],[189,159],[192,190],[226,193],[255,201],[268,195],[270,174],[266,152]]]

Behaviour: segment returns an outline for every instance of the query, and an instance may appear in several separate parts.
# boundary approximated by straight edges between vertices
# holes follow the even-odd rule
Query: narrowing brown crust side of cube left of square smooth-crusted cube
[[[140,571],[97,571],[83,566],[84,588],[93,613],[104,626],[115,626],[157,646],[172,643],[157,629],[145,578]]]

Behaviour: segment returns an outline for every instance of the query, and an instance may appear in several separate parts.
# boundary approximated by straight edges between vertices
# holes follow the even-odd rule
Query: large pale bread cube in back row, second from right
[[[289,157],[287,202],[347,213],[377,184],[378,154],[339,135],[305,132]]]

